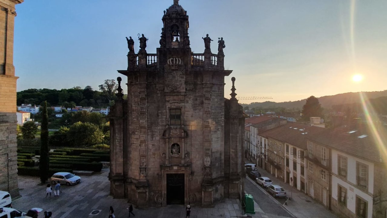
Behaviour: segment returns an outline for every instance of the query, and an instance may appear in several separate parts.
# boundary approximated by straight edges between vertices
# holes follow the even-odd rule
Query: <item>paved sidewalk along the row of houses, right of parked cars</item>
[[[258,167],[258,171],[262,176],[269,177],[273,181],[273,184],[282,186],[282,188],[285,189],[287,196],[290,198],[292,186],[260,167]],[[288,205],[283,206],[297,218],[338,218],[338,216],[329,211],[322,204],[294,187],[293,198],[291,200],[288,199],[286,203]]]

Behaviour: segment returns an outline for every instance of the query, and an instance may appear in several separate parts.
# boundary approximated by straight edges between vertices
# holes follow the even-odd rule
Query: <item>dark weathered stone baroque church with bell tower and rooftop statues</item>
[[[224,97],[223,38],[211,52],[193,53],[187,11],[174,0],[164,11],[160,47],[140,50],[127,38],[128,98],[118,77],[118,100],[110,111],[110,193],[139,206],[212,206],[244,191],[243,108]],[[137,41],[137,40],[136,40]],[[138,41],[137,41],[138,42]]]

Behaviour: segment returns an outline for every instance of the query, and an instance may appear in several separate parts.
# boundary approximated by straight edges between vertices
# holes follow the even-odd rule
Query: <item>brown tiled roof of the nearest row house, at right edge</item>
[[[380,162],[380,154],[384,154],[379,150],[378,143],[375,142],[372,132],[366,128],[358,128],[345,125],[333,129],[325,129],[318,134],[308,135],[307,139],[326,145],[336,150],[346,152],[348,154],[358,156],[372,162]],[[360,130],[361,129],[361,130]],[[356,132],[349,133],[356,130]],[[377,132],[382,142],[387,142],[387,131],[385,128],[377,128]],[[359,136],[365,136],[359,138]],[[384,145],[386,146],[386,145]]]

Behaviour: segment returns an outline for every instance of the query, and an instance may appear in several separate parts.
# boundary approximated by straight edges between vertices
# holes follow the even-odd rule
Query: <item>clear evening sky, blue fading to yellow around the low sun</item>
[[[173,0],[25,0],[16,5],[17,91],[98,85],[127,68],[125,37],[159,47],[163,10]],[[225,96],[295,101],[387,89],[387,1],[180,0],[191,49],[223,37]],[[135,52],[139,42],[135,40]],[[354,75],[355,78],[353,78]],[[354,81],[356,80],[356,81]],[[126,92],[126,88],[124,89]],[[240,103],[266,100],[241,100]]]

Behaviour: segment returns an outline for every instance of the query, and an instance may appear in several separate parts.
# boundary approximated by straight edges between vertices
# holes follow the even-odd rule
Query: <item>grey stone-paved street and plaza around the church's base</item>
[[[264,175],[264,172],[263,172]],[[128,217],[125,208],[128,207],[127,200],[113,199],[109,195],[108,169],[92,176],[81,176],[82,183],[75,186],[61,186],[62,194],[59,197],[46,198],[45,186],[40,186],[39,177],[19,176],[19,188],[22,195],[14,199],[12,205],[15,209],[28,211],[30,208],[39,207],[45,211],[52,211],[53,218],[107,218],[109,206],[115,209],[117,218]],[[273,179],[274,180],[274,179]],[[252,180],[246,178],[246,192],[252,194],[255,200],[255,214],[247,214],[244,217],[252,218],[334,218],[332,213],[325,210],[320,204],[305,204],[305,200],[294,200],[284,208],[281,203],[268,195]],[[286,186],[283,186],[285,189]],[[288,190],[286,190],[288,192]],[[293,193],[293,198],[299,198],[299,193]],[[302,194],[302,193],[301,193]],[[299,198],[301,199],[301,198]],[[306,199],[306,198],[305,198]],[[213,218],[213,217],[243,217],[240,212],[240,201],[238,199],[225,199],[214,208],[192,207],[191,218]],[[287,209],[287,210],[286,210]],[[290,213],[289,213],[290,211]],[[92,215],[95,213],[95,215]],[[162,208],[147,208],[134,210],[135,217],[151,218],[179,218],[185,217],[185,205],[169,205]],[[292,216],[295,215],[295,216]],[[39,215],[39,218],[43,215]]]

